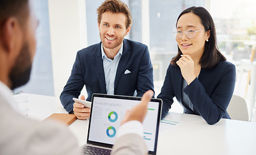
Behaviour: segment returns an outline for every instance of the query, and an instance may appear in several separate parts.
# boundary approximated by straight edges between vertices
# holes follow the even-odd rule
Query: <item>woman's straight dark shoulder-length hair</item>
[[[218,45],[216,41],[216,30],[215,30],[215,23],[213,22],[213,18],[209,14],[209,12],[203,8],[203,7],[195,7],[192,6],[190,8],[187,8],[186,10],[183,10],[181,12],[180,16],[177,19],[176,27],[178,20],[183,14],[187,14],[192,12],[196,16],[200,17],[201,23],[205,28],[205,31],[210,30],[210,37],[209,41],[205,42],[205,48],[204,53],[199,61],[199,64],[202,68],[213,68],[215,65],[220,61],[226,61],[226,57],[224,57],[220,50],[218,50]],[[177,65],[176,61],[180,59],[182,55],[182,52],[180,48],[178,47],[178,54],[176,57],[174,57],[171,61],[172,65]]]

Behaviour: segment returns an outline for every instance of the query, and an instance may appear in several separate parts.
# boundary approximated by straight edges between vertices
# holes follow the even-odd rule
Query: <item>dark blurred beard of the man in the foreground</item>
[[[10,71],[9,78],[12,90],[25,85],[29,81],[32,68],[32,63],[30,63],[30,61],[29,43],[25,42],[19,52],[19,56],[17,56],[14,67],[12,67],[12,70]]]

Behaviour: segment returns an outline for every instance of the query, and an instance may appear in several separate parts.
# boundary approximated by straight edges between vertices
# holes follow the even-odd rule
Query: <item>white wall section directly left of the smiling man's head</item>
[[[71,74],[76,52],[87,47],[84,0],[49,0],[54,96],[59,97]]]

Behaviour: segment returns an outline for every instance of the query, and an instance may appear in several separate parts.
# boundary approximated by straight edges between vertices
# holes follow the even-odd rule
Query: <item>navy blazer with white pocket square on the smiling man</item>
[[[115,76],[114,94],[143,96],[147,90],[154,91],[153,67],[148,47],[142,43],[124,39],[122,56]],[[101,42],[77,52],[71,76],[60,95],[60,101],[67,112],[73,112],[73,99],[78,98],[84,85],[87,101],[93,93],[106,94]],[[129,74],[124,74],[130,70]]]

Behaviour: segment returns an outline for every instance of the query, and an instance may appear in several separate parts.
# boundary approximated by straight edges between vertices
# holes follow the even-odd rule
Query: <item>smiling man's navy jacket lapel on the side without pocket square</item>
[[[97,78],[99,79],[100,88],[102,90],[102,93],[106,94],[106,81],[105,81],[105,74],[104,74],[104,68],[103,68],[103,60],[101,56],[101,49],[100,49],[101,43],[99,43],[96,47],[96,50],[94,51],[94,57],[93,57],[93,63],[95,66],[95,72],[97,74]]]

